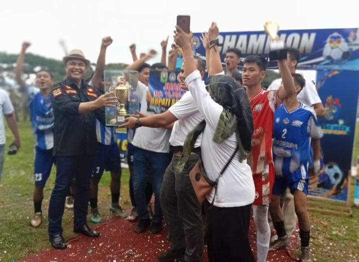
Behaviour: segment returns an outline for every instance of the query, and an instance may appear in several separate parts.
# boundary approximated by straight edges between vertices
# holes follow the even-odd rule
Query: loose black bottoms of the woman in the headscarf
[[[251,206],[209,209],[209,262],[255,262],[248,240]]]

